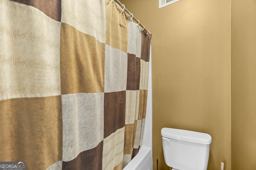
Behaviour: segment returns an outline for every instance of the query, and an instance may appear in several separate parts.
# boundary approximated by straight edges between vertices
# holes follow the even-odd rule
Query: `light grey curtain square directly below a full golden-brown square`
[[[63,161],[95,148],[104,138],[104,93],[62,95]]]

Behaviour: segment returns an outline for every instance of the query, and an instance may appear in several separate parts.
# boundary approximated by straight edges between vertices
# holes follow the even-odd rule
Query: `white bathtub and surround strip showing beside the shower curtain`
[[[152,71],[151,71],[151,45],[150,64],[148,75],[148,103],[144,133],[140,150],[123,170],[153,170],[152,157]]]

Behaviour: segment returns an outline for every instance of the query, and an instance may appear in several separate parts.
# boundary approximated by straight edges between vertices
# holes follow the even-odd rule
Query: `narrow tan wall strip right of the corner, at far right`
[[[232,0],[232,170],[256,170],[256,1]]]

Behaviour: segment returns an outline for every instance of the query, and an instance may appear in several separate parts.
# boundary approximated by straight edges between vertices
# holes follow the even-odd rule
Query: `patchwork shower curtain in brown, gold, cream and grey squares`
[[[111,0],[0,0],[0,161],[124,168],[143,133],[150,39]]]

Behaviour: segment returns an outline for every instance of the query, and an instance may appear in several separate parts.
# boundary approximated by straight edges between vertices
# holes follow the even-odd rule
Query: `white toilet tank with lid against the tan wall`
[[[207,170],[212,137],[207,133],[161,130],[165,163],[172,170]]]

